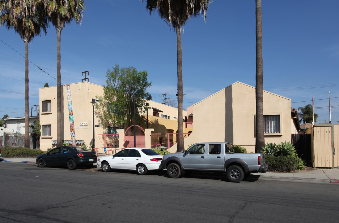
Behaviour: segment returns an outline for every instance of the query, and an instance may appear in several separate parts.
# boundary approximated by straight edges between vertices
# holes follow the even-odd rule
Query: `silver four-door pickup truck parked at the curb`
[[[196,143],[182,153],[163,156],[162,169],[171,178],[188,171],[226,172],[230,182],[239,183],[251,173],[266,172],[264,153],[234,153],[228,142]]]

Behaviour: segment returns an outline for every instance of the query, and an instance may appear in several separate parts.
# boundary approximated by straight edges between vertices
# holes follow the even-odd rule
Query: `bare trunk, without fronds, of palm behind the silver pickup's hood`
[[[181,52],[181,26],[176,25],[177,31],[177,63],[178,63],[178,144],[177,152],[184,151],[184,131],[182,126],[182,52]]]

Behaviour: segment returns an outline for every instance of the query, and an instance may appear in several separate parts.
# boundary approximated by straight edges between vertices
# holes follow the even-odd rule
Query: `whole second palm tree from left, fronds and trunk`
[[[85,3],[83,0],[44,1],[47,6],[48,20],[52,22],[57,31],[57,146],[61,146],[61,31],[64,28],[65,23],[69,24],[73,21],[73,19],[75,19],[77,23],[81,22]]]

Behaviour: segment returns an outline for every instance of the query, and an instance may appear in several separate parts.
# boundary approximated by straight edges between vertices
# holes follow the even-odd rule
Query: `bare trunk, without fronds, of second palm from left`
[[[61,139],[61,72],[60,72],[60,41],[61,30],[57,30],[57,147],[62,146]]]

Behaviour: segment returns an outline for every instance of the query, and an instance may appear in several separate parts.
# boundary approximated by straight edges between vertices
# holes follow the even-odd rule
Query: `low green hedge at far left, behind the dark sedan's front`
[[[1,147],[1,153],[3,157],[37,157],[45,152],[42,150],[31,150],[24,147],[10,147],[8,145]]]

